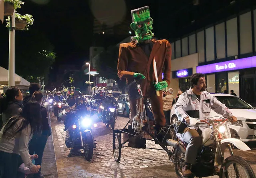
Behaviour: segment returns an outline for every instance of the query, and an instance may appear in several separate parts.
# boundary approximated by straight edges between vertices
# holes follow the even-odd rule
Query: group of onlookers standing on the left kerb
[[[0,178],[43,178],[42,155],[51,128],[37,83],[23,97],[10,87],[0,97]]]

